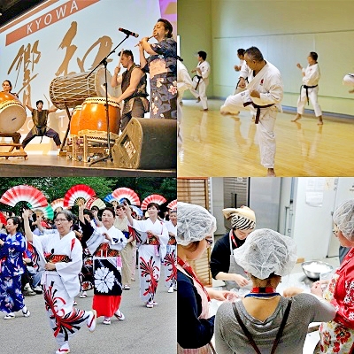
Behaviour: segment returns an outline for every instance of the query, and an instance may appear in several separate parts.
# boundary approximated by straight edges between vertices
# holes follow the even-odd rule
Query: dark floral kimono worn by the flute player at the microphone
[[[165,38],[151,49],[158,54],[143,68],[150,73],[150,118],[177,119],[177,42]]]

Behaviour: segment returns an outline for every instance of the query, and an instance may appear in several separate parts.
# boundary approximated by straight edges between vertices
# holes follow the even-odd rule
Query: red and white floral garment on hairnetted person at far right
[[[354,350],[354,248],[329,281],[323,297],[337,313],[335,319],[320,325],[320,340],[314,353],[350,354]]]

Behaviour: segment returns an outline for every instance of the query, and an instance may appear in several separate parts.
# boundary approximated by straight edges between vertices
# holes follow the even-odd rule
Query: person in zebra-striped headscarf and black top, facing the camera
[[[235,262],[234,250],[241,247],[246,238],[256,226],[256,215],[247,206],[241,208],[227,208],[222,211],[226,219],[231,219],[231,230],[224,235],[212,250],[211,271],[212,278],[225,281],[230,289],[250,288],[250,281],[246,278],[242,266]]]

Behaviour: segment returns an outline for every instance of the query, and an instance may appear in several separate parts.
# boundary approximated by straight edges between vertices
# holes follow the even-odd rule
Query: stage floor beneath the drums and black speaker
[[[110,160],[89,163],[65,156],[28,155],[28,158],[0,158],[0,177],[176,177],[173,170],[122,169]]]

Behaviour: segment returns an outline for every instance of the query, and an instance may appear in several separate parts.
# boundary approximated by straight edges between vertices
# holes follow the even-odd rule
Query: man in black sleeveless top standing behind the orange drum
[[[118,98],[111,98],[118,104],[124,100],[120,131],[127,127],[132,117],[143,118],[144,113],[149,112],[149,101],[146,99],[146,73],[142,72],[140,65],[134,62],[131,50],[122,50],[119,53],[121,65],[127,69],[119,75],[120,65],[114,69],[111,86],[115,88],[121,85],[122,94]]]

